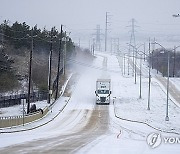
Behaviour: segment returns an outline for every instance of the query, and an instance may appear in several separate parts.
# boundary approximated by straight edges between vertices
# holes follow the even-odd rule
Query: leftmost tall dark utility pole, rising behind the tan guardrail
[[[33,53],[33,28],[31,29],[31,51],[29,55],[29,85],[28,85],[28,98],[27,98],[27,114],[29,114],[30,112],[32,53]]]

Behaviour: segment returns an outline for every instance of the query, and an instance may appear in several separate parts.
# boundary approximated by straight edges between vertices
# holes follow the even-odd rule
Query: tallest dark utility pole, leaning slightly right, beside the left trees
[[[56,79],[56,95],[55,99],[58,98],[58,91],[59,91],[59,75],[60,75],[60,62],[61,62],[61,51],[62,51],[62,25],[61,25],[61,34],[59,38],[59,55],[58,55],[58,70],[57,70],[57,79]]]

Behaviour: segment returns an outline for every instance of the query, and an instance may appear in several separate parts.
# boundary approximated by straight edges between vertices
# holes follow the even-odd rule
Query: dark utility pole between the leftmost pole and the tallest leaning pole
[[[50,41],[50,53],[49,53],[49,72],[48,72],[48,104],[51,103],[51,64],[52,64],[52,32],[51,32],[51,41]]]

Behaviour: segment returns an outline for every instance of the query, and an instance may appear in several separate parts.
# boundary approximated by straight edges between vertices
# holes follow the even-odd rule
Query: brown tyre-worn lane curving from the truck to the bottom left
[[[75,110],[72,112],[79,111]],[[72,115],[72,113],[70,114]],[[59,135],[53,138],[31,141],[25,144],[10,146],[8,148],[6,147],[5,149],[1,149],[0,153],[74,153],[107,132],[109,121],[108,117],[108,106],[95,106],[88,123],[79,132],[73,133],[74,131],[72,130],[72,133],[67,135]],[[69,118],[69,116],[66,118]],[[86,118],[86,114],[84,115],[84,118]],[[66,119],[63,121],[65,122]]]

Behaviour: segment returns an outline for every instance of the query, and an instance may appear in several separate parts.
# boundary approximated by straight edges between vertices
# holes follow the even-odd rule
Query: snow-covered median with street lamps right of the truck
[[[112,62],[111,62],[112,65]],[[113,67],[113,66],[112,66]],[[146,71],[148,73],[148,71]],[[150,94],[150,110],[148,108],[148,78],[145,71],[142,74],[142,89],[140,99],[140,77],[137,75],[137,83],[134,84],[134,77],[126,78],[111,75],[115,89],[118,93],[114,95],[115,112],[124,119],[144,122],[162,131],[178,132],[180,134],[179,118],[180,108],[169,100],[169,118],[166,117],[166,91],[159,85],[159,82],[152,78]],[[177,82],[177,81],[176,81]],[[116,91],[116,90],[115,90]]]

